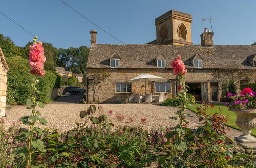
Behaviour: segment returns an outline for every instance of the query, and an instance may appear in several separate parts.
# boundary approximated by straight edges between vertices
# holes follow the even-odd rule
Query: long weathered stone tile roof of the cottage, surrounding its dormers
[[[110,68],[110,57],[114,54],[120,57],[119,68],[157,69],[155,59],[159,54],[168,63],[181,55],[187,68],[193,68],[191,59],[196,54],[203,60],[203,68],[210,69],[255,69],[248,63],[248,58],[256,54],[256,45],[111,45],[97,44],[90,48],[87,68]]]

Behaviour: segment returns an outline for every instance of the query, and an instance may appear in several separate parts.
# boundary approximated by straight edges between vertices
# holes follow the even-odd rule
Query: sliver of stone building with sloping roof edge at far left
[[[0,117],[5,116],[6,107],[6,90],[7,90],[7,77],[9,71],[8,65],[5,61],[4,54],[0,48]]]

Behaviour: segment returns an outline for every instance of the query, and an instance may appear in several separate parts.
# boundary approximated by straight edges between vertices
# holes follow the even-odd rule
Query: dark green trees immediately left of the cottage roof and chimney
[[[73,73],[84,73],[89,55],[89,48],[81,46],[79,48],[70,47],[68,49],[59,49],[59,66],[65,67]]]

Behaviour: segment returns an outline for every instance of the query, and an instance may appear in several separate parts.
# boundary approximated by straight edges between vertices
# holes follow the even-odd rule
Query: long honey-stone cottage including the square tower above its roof
[[[237,92],[240,83],[255,82],[256,45],[214,45],[214,33],[207,29],[201,45],[193,45],[191,22],[190,14],[170,10],[155,19],[156,40],[143,45],[97,44],[92,30],[86,72],[89,102],[123,103],[133,93],[144,94],[144,83],[129,81],[143,73],[164,78],[147,83],[148,92],[176,96],[178,83],[170,62],[177,55],[186,65],[186,84],[197,101],[220,101],[225,80],[233,80]]]

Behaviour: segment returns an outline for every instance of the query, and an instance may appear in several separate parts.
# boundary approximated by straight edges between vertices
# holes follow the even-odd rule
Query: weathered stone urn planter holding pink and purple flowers
[[[256,138],[251,136],[251,130],[256,128],[256,109],[229,109],[237,115],[236,125],[241,128],[243,135],[235,137],[242,143],[256,143]]]

